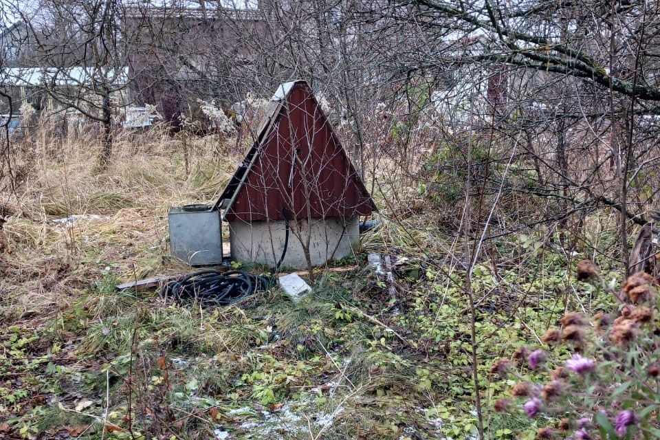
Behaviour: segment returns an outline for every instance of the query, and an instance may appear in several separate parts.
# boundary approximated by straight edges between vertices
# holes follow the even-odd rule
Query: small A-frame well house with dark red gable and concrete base
[[[218,205],[234,261],[276,265],[286,251],[291,268],[350,255],[358,217],[376,210],[304,80],[278,87]]]

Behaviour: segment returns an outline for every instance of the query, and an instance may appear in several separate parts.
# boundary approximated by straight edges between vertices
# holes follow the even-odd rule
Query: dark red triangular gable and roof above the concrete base
[[[256,142],[223,191],[225,219],[353,217],[376,210],[304,80],[278,87]]]

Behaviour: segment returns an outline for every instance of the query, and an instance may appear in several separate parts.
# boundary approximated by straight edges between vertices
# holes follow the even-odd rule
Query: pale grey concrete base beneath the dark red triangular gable
[[[339,260],[353,254],[360,242],[358,217],[314,219],[311,225],[306,220],[291,222],[290,228],[287,254],[282,265],[292,269],[307,268],[301,239],[304,243],[310,233],[309,253],[315,266],[325,264],[330,258]],[[232,260],[270,266],[277,264],[284,249],[285,222],[233,221],[229,223],[229,229]]]

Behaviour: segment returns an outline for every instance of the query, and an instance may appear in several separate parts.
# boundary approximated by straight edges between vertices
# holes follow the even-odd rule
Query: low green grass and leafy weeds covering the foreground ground
[[[537,253],[529,265],[527,274],[503,268],[500,278],[487,265],[474,271],[476,297],[489,294],[476,317],[478,371],[487,430],[499,432],[498,439],[529,437],[536,426],[488,408],[506,392],[492,381],[492,362],[534,344],[529,329],[543,333],[564,306],[575,305],[563,292],[567,271],[561,256]],[[100,438],[106,393],[110,421],[122,431],[107,432],[105,439],[126,438],[129,395],[133,430],[145,439],[159,432],[196,439],[219,428],[247,439],[251,430],[245,426],[303,439],[310,429],[318,434],[322,426],[315,420],[337,408],[342,409],[323,431],[324,439],[465,438],[461,435],[476,423],[465,294],[423,259],[413,258],[410,267],[421,275],[400,278],[405,290],[394,300],[363,266],[321,274],[314,293],[297,304],[275,288],[240,305],[200,309],[166,304],[155,292],[116,292],[121,266],[113,265],[40,329],[14,327],[11,334],[17,337],[10,341],[8,330],[0,333],[12,357],[43,357],[34,363],[0,362],[0,373],[25,377],[19,390],[25,395],[10,382],[0,384],[5,390],[0,406],[12,407],[11,425],[17,429],[91,426],[80,437],[90,439]],[[162,268],[156,254],[137,263],[140,274]],[[540,272],[544,276],[532,275]],[[463,274],[454,271],[453,277],[461,281]],[[494,294],[498,285],[502,290]],[[593,307],[608,304],[598,292],[580,298],[591,298]],[[35,404],[36,395],[55,399],[64,409]],[[76,412],[86,401],[91,406]],[[234,415],[236,408],[250,411]]]

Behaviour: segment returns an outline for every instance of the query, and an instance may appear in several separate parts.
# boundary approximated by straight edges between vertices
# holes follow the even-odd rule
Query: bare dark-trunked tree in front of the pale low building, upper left
[[[63,0],[44,2],[34,11],[23,10],[21,3],[14,8],[32,47],[21,56],[14,80],[28,76],[58,109],[75,109],[99,122],[100,164],[107,165],[113,111],[129,100],[124,6],[118,0]]]

